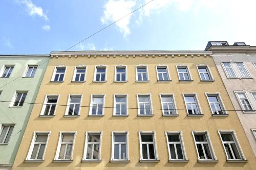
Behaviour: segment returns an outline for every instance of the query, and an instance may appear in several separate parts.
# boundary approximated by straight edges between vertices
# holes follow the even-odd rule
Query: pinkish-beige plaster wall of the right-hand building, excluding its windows
[[[250,91],[256,91],[256,68],[253,65],[253,63],[256,63],[256,56],[250,56],[249,54],[216,54],[213,55],[213,58],[220,72],[220,76],[226,86],[234,108],[236,110],[243,110],[234,91],[245,91],[247,92],[247,96],[254,110],[256,110],[256,101],[252,98],[252,95],[250,94]],[[227,78],[221,62],[231,62],[238,78]],[[240,72],[236,65],[234,65],[234,62],[244,62],[247,70],[249,71],[251,79],[241,78]],[[246,136],[249,139],[254,155],[256,156],[256,139],[251,131],[252,128],[256,129],[256,113],[244,113],[243,111],[237,111],[237,114],[244,128]]]

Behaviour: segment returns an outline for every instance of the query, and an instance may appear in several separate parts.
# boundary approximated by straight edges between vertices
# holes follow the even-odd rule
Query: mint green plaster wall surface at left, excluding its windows
[[[1,56],[0,68],[4,65],[15,65],[9,78],[0,78],[1,101],[11,101],[16,90],[28,91],[25,102],[33,103],[36,99],[44,72],[49,61],[49,56]],[[20,77],[24,74],[28,64],[42,64],[36,70],[34,78]],[[2,75],[1,75],[2,76]],[[16,79],[16,80],[14,80]],[[12,81],[14,80],[14,81]],[[11,82],[12,81],[12,82]],[[7,85],[6,85],[7,84]],[[5,85],[5,86],[4,86]],[[23,107],[9,107],[10,103],[0,102],[0,124],[15,124],[11,138],[7,145],[0,145],[0,164],[13,164],[20,141],[26,129],[26,125],[33,108],[32,104],[24,104]]]

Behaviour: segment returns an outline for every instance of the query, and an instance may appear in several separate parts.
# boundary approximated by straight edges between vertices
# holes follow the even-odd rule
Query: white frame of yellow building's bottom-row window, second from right
[[[210,162],[216,162],[217,161],[217,157],[215,155],[214,148],[212,147],[212,144],[211,144],[209,132],[208,131],[191,131],[191,132],[192,132],[194,143],[195,143],[195,147],[196,147],[196,150],[197,150],[198,162],[209,162],[209,161]],[[199,134],[199,135],[204,134],[206,136],[206,140],[207,141],[206,142],[197,142],[196,138],[195,138],[195,134]],[[198,148],[197,148],[197,144],[198,143],[199,144],[208,144],[208,147],[209,147],[212,159],[200,159],[199,153],[198,153]],[[203,145],[202,145],[202,148],[204,149]],[[206,157],[206,154],[205,154],[204,150],[203,150],[203,153],[204,153],[204,157]]]

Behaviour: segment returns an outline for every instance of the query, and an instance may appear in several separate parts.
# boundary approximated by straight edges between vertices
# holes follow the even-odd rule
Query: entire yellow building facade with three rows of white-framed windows
[[[256,169],[211,52],[52,52],[35,103],[13,169]]]

